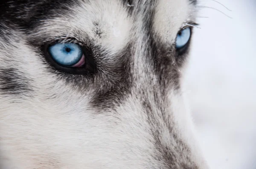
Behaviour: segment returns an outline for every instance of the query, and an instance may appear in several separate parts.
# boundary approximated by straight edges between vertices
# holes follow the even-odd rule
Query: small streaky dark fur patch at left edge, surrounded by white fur
[[[0,92],[3,94],[26,95],[32,91],[29,79],[15,68],[0,69]]]

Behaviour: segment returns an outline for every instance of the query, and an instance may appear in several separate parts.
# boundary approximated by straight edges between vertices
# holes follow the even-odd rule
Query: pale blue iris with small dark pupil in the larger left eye
[[[49,47],[49,53],[62,66],[76,65],[83,56],[80,46],[74,43],[57,43]]]

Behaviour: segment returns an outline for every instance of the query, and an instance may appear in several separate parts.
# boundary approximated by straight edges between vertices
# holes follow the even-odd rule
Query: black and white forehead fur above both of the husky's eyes
[[[137,39],[134,35],[141,34],[143,26],[150,28],[151,34],[157,34],[164,43],[173,43],[183,24],[195,20],[196,1],[18,0],[2,3],[2,13],[6,17],[14,18],[30,31],[37,25],[32,36],[38,36],[38,40],[58,36],[76,37],[85,42],[92,39],[95,44],[116,52],[129,40]]]

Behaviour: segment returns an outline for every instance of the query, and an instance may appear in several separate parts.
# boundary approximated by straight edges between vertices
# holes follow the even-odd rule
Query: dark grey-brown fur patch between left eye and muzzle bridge
[[[102,84],[102,87],[96,87],[96,94],[91,101],[93,107],[98,107],[100,110],[113,109],[122,104],[125,97],[131,93],[131,87],[133,87],[131,55],[130,44],[116,56],[118,59],[108,62],[111,64],[106,64],[106,59],[101,60],[97,57],[98,64],[102,66],[99,76],[105,76],[105,78],[94,82],[95,86]]]

